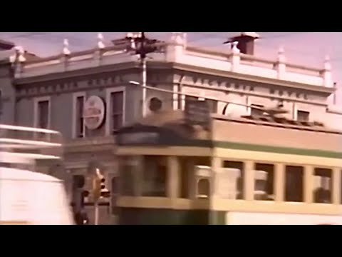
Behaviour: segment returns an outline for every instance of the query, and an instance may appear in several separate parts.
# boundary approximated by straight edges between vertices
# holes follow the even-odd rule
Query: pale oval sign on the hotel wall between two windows
[[[105,103],[98,96],[90,96],[84,104],[84,125],[87,129],[98,129],[103,119],[105,119]]]

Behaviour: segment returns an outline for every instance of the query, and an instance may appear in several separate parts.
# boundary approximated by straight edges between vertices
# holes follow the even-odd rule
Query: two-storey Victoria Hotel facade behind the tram
[[[278,59],[265,60],[240,51],[239,44],[232,43],[227,52],[213,51],[189,46],[185,34],[172,33],[147,60],[147,86],[174,94],[147,89],[147,114],[155,112],[151,103],[156,99],[162,110],[184,109],[193,96],[176,94],[182,92],[207,98],[213,113],[228,117],[254,114],[257,108],[281,102],[288,111],[286,119],[341,127],[342,111],[327,102],[335,91],[328,59],[321,68],[310,68],[287,63],[282,49]],[[61,131],[63,166],[73,176],[85,176],[91,161],[100,163],[112,190],[118,176],[115,133],[142,117],[142,89],[130,83],[142,80],[139,56],[118,46],[75,53],[67,47],[57,56],[0,68],[14,76],[13,81],[10,76],[0,78],[5,81],[1,92],[11,99],[4,105],[2,122]],[[48,172],[48,166],[40,171]],[[103,223],[110,222],[108,215],[102,215]]]

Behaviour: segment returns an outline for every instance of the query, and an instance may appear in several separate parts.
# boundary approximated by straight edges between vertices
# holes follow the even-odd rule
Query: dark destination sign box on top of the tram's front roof
[[[209,129],[210,110],[207,101],[191,100],[185,104],[185,121],[189,125]]]

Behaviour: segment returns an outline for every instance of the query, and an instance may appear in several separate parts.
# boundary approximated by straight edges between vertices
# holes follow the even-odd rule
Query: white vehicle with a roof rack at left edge
[[[0,224],[72,225],[63,181],[34,171],[36,160],[60,158],[52,153],[61,134],[8,125],[0,133]]]

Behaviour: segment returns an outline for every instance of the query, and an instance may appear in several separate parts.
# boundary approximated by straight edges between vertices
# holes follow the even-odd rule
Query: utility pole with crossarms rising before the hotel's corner
[[[130,48],[135,51],[135,54],[140,56],[140,65],[142,66],[142,116],[147,114],[146,103],[146,86],[147,86],[147,54],[153,53],[157,50],[157,41],[147,39],[145,32],[128,33],[126,39],[130,41]]]

